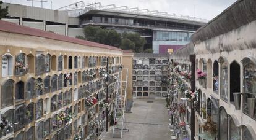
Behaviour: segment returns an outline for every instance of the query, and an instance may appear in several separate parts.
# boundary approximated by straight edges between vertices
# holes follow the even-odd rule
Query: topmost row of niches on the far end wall
[[[168,60],[160,60],[156,58],[147,58],[147,59],[134,59],[132,60],[133,64],[168,64]]]

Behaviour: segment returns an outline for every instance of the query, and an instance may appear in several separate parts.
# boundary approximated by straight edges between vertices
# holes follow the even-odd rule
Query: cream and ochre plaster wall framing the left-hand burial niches
[[[106,57],[122,57],[122,51],[116,51],[116,50],[109,50],[109,49],[103,49],[103,48],[97,48],[97,47],[90,47],[90,46],[85,46],[85,45],[79,45],[79,44],[74,44],[74,43],[70,43],[70,42],[65,42],[65,41],[56,41],[54,39],[46,39],[43,37],[36,37],[36,36],[28,36],[28,35],[24,35],[24,34],[17,34],[17,33],[7,33],[5,31],[0,31],[0,56],[3,56],[5,54],[11,55],[13,57],[12,61],[15,62],[15,56],[19,55],[20,53],[25,53],[25,55],[32,55],[33,56],[33,62],[31,63],[31,61],[26,60],[26,62],[28,62],[28,66],[29,68],[32,68],[33,66],[33,71],[35,71],[35,56],[37,54],[37,52],[40,51],[41,54],[50,54],[51,56],[56,55],[64,55],[64,56],[72,56],[72,58],[74,58],[75,56],[106,56]],[[0,67],[2,68],[2,59],[0,60]],[[52,61],[53,62],[53,61]],[[64,58],[64,66],[67,63],[67,60],[65,60]],[[12,63],[12,67],[15,68],[14,64]],[[56,63],[57,64],[57,63]],[[119,64],[121,64],[121,61],[119,61]],[[53,65],[53,63],[51,64]],[[117,64],[113,64],[113,65],[117,65]],[[101,66],[98,65],[94,67],[94,69],[99,69],[101,68]],[[102,67],[103,68],[103,67]],[[65,74],[65,73],[70,73],[72,72],[73,74],[75,72],[81,72],[81,71],[87,71],[89,68],[78,68],[78,69],[74,69],[74,59],[73,59],[73,69],[62,69],[61,71],[56,71],[51,69],[51,71],[49,72],[45,72],[43,74],[35,74],[35,72],[31,72],[32,69],[30,69],[28,71],[28,74],[24,74],[22,76],[15,76],[14,74],[11,74],[9,76],[4,76],[2,77],[2,74],[0,75],[0,91],[2,91],[2,85],[4,84],[4,82],[6,82],[6,80],[8,79],[12,79],[14,80],[14,91],[12,92],[13,95],[13,103],[10,106],[7,107],[2,107],[0,108],[0,115],[4,114],[6,111],[8,111],[9,109],[15,109],[15,107],[17,107],[19,103],[15,102],[15,83],[19,82],[20,80],[24,81],[25,84],[27,85],[27,80],[29,78],[41,78],[44,79],[46,76],[53,76],[54,74]],[[93,68],[90,68],[93,69]],[[13,71],[14,73],[15,71]],[[2,69],[0,69],[0,73],[2,73]],[[97,77],[96,79],[99,79],[99,77]],[[85,83],[83,83],[85,84]],[[24,103],[26,106],[30,103],[37,103],[39,99],[47,99],[47,98],[51,98],[52,96],[61,93],[61,92],[65,92],[65,91],[69,91],[69,90],[74,90],[75,88],[78,88],[80,86],[83,85],[81,82],[79,82],[77,85],[70,85],[69,87],[65,87],[65,88],[61,88],[56,92],[51,92],[51,93],[47,93],[47,94],[43,94],[40,96],[34,96],[32,99],[23,99],[23,101],[21,103]],[[74,93],[74,91],[73,91]],[[113,94],[113,93],[111,93]],[[73,99],[73,98],[72,98]],[[80,101],[84,101],[83,99],[79,99]],[[63,106],[60,109],[54,111],[54,112],[47,112],[46,114],[43,114],[42,117],[40,117],[40,119],[33,119],[32,122],[30,123],[26,123],[26,125],[24,127],[22,127],[21,129],[15,131],[15,132],[11,132],[9,134],[7,134],[6,136],[2,136],[0,139],[10,139],[10,138],[14,138],[15,136],[17,136],[17,134],[19,134],[20,132],[24,132],[28,130],[28,128],[31,128],[32,126],[36,126],[39,122],[46,120],[48,118],[53,117],[54,114],[59,114],[61,111],[65,111],[66,107],[70,107],[70,106],[75,106],[75,104],[77,104],[79,102],[79,100],[74,101],[72,100],[72,103],[70,103],[67,106]],[[104,100],[104,99],[103,99]],[[102,101],[103,101],[102,100]],[[2,92],[0,92],[0,104],[2,101]],[[99,102],[98,102],[99,103]],[[84,104],[84,103],[83,103]],[[45,105],[43,105],[45,106]],[[47,105],[48,106],[48,105]],[[110,104],[110,106],[112,106],[112,104]],[[37,106],[36,106],[37,107]],[[95,105],[94,107],[98,108],[98,105]],[[84,107],[82,107],[84,108]],[[95,111],[95,114],[101,114],[100,112],[96,112],[99,109],[92,109],[93,111]],[[113,108],[110,109],[110,112],[113,111]],[[35,112],[35,111],[34,111]],[[83,111],[79,112],[79,114],[77,114],[77,117],[73,119],[73,123],[75,120],[79,120],[77,118],[82,117],[82,115],[86,115],[88,110],[87,109],[83,109]],[[25,116],[24,116],[25,117]],[[78,121],[79,122],[79,121]],[[88,117],[85,118],[85,122],[88,123]],[[14,123],[13,123],[14,124]],[[79,125],[77,125],[77,129]],[[64,126],[62,126],[64,127]],[[72,126],[71,126],[72,127]],[[86,128],[85,126],[81,126],[81,128]],[[36,129],[35,129],[36,130]],[[73,134],[71,134],[70,136],[72,136],[72,138],[74,137],[74,128],[72,128],[73,130]],[[36,133],[35,133],[36,134]],[[46,136],[45,139],[51,139],[54,134],[56,134],[56,132],[53,132],[51,134],[49,134],[48,136]]]

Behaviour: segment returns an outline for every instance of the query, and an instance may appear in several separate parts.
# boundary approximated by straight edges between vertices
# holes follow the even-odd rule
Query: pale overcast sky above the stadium
[[[2,0],[4,2],[32,5],[32,0]],[[38,1],[38,0],[37,0]],[[41,0],[39,0],[41,1]],[[43,0],[43,7],[53,9],[67,6],[81,0]],[[85,4],[101,2],[102,5],[115,4],[116,6],[138,7],[139,9],[158,10],[190,17],[205,18],[211,20],[224,9],[231,6],[236,0],[85,0]],[[33,6],[41,7],[41,2],[33,2]]]

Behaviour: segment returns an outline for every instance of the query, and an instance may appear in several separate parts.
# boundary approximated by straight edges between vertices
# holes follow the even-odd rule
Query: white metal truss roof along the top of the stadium
[[[56,10],[66,10],[71,17],[81,17],[87,14],[115,15],[120,17],[143,18],[148,20],[173,21],[194,25],[205,25],[207,20],[184,15],[169,14],[167,12],[150,11],[148,9],[129,8],[127,6],[117,7],[115,4],[103,6],[100,2],[85,5],[83,1],[75,2]]]

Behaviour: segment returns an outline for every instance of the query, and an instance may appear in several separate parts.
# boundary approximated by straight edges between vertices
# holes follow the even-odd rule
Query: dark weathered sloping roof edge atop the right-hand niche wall
[[[255,7],[255,0],[236,1],[231,7],[228,7],[220,15],[209,21],[207,25],[198,29],[197,33],[192,36],[192,41],[205,41],[247,25],[256,20]]]

